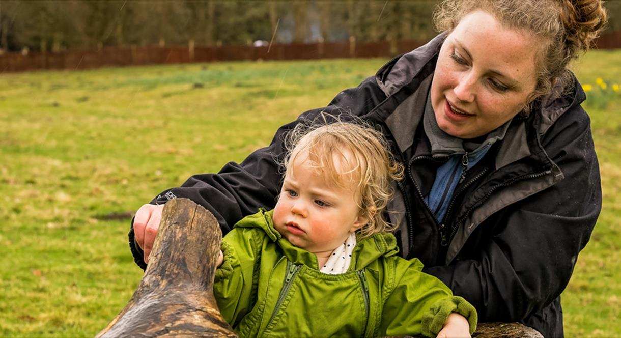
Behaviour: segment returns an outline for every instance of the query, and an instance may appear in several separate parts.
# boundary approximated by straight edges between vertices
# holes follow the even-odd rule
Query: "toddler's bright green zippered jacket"
[[[392,234],[359,239],[347,273],[319,271],[314,253],[294,247],[261,209],[222,241],[214,293],[242,337],[436,336],[451,312],[476,328],[473,306],[417,259],[397,257]]]

